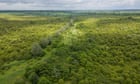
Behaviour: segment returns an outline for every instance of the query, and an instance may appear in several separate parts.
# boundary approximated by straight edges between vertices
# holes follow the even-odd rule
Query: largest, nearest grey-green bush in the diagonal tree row
[[[39,44],[34,44],[31,49],[32,56],[43,56],[45,53]]]

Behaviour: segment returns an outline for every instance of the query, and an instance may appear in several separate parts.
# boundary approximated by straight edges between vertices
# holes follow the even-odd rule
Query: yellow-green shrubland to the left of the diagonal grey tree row
[[[0,62],[31,59],[31,45],[40,44],[42,37],[52,36],[67,20],[66,17],[0,14]],[[41,44],[46,47],[45,43]]]

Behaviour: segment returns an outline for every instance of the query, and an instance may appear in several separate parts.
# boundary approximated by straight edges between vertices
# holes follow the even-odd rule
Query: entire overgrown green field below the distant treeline
[[[0,14],[0,84],[140,84],[140,16]]]

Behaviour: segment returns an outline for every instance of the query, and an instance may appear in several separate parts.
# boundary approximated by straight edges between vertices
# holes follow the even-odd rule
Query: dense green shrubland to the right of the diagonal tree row
[[[86,29],[76,27],[53,40],[50,47],[54,49],[46,50],[50,57],[31,70],[37,71],[40,76],[45,75],[52,83],[59,83],[61,79],[70,81],[70,84],[134,83],[139,78],[138,67],[133,65],[139,64],[136,46],[139,46],[140,40],[137,36],[128,35],[134,34],[139,25],[135,20],[124,22],[124,19],[127,17],[122,20],[105,19],[105,24],[97,25],[100,29],[95,27],[100,19],[93,24],[94,27],[92,19],[85,20],[82,23],[86,23]],[[118,25],[119,21],[123,23]],[[128,26],[129,22],[133,23]],[[120,28],[125,26],[130,28]],[[133,71],[133,75],[130,74]]]

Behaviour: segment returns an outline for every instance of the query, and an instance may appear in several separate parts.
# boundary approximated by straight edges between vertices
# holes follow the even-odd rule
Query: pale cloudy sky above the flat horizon
[[[0,0],[0,10],[140,9],[140,0]]]

